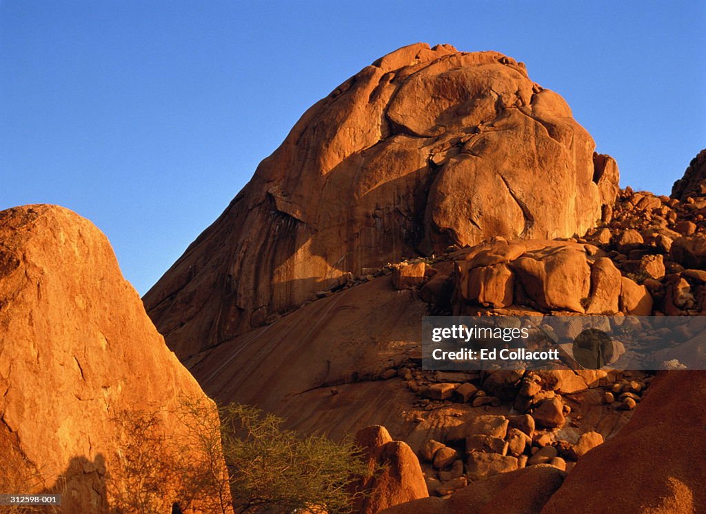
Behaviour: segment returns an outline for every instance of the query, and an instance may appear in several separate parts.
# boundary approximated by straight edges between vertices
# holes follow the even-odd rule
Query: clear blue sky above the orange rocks
[[[524,61],[669,193],[706,146],[703,1],[0,0],[0,209],[57,203],[140,293],[313,102],[405,44]]]

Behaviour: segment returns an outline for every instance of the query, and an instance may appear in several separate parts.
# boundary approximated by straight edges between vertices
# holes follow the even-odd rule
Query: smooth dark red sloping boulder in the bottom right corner
[[[630,422],[585,453],[542,514],[686,514],[706,506],[706,372],[662,371]]]

